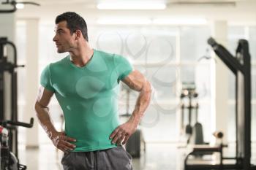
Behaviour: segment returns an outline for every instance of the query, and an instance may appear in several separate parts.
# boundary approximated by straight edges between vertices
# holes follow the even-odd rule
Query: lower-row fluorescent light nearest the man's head
[[[150,24],[148,18],[99,18],[98,24],[102,25],[146,25]]]

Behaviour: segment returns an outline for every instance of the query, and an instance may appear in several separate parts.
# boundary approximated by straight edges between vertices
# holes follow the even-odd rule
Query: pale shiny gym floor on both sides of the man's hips
[[[232,151],[229,153],[232,155]],[[26,164],[28,170],[62,169],[62,153],[57,152],[50,144],[41,145],[39,150],[25,150],[20,146],[19,155],[20,163]],[[147,144],[145,154],[140,159],[133,159],[132,163],[134,170],[181,170],[184,155],[184,149],[178,149],[177,144]],[[255,155],[252,155],[252,158],[255,158]]]

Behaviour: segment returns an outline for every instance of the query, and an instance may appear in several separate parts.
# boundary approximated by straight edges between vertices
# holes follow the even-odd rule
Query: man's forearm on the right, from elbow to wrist
[[[130,121],[136,123],[137,125],[140,123],[148,104],[150,103],[151,99],[151,84],[146,81],[143,85],[143,88],[140,90],[140,95],[135,104],[135,109],[132,112],[132,116],[129,118]]]

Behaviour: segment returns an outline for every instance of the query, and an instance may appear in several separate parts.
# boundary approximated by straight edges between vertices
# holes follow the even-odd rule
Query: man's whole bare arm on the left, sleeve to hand
[[[52,96],[52,91],[40,86],[34,109],[37,112],[39,123],[42,125],[42,128],[53,144],[63,152],[67,152],[75,148],[74,144],[69,143],[75,142],[75,139],[65,136],[64,132],[56,131],[52,120],[50,120],[48,104]]]

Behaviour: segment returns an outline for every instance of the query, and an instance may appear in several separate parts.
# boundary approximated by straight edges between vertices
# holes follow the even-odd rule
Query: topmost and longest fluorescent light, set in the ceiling
[[[97,4],[98,9],[165,9],[166,4],[148,1],[102,2]]]

